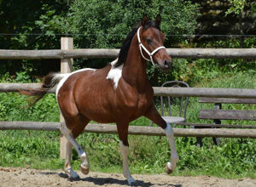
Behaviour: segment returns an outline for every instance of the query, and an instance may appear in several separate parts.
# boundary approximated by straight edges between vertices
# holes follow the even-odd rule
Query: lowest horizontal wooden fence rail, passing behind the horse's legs
[[[0,130],[44,130],[60,131],[61,122],[0,122]],[[255,129],[221,129],[221,128],[173,128],[176,137],[222,137],[256,139]],[[89,123],[86,133],[118,133],[116,125]],[[129,126],[129,134],[166,136],[160,127]]]

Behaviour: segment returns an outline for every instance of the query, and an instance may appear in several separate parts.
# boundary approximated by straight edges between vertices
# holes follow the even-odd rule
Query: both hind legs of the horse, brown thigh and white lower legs
[[[68,117],[66,120],[66,124],[63,124],[61,126],[61,133],[66,137],[67,139],[67,153],[66,153],[66,161],[65,161],[65,172],[68,173],[72,178],[78,178],[79,175],[75,173],[71,167],[71,157],[72,157],[72,145],[74,148],[78,151],[80,160],[82,161],[80,165],[81,172],[84,174],[89,173],[89,162],[87,160],[86,153],[84,150],[80,147],[80,145],[76,142],[76,138],[79,136],[80,133],[83,132],[84,127],[90,122],[90,119],[87,117],[80,115],[80,116],[74,116],[72,118]],[[72,126],[68,125],[72,122]],[[74,124],[77,124],[74,127]],[[68,127],[73,127],[73,129],[69,129]]]

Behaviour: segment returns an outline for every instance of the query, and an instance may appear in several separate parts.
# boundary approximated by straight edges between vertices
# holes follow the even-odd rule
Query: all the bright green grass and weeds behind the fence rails
[[[256,88],[253,73],[236,73],[236,77],[219,76],[211,81],[196,82],[201,88]],[[178,103],[178,101],[177,101]],[[60,111],[55,95],[48,94],[32,108],[24,108],[26,99],[19,94],[0,94],[1,121],[59,122]],[[159,103],[156,102],[156,105]],[[232,109],[256,110],[255,105],[224,105]],[[177,113],[177,105],[172,107]],[[202,108],[213,105],[199,104],[197,98],[189,99],[188,122],[205,122],[197,119]],[[211,121],[207,121],[211,122]],[[131,125],[148,126],[149,120],[139,118]],[[227,124],[255,124],[255,122],[223,122]],[[60,169],[64,160],[59,158],[60,133],[37,131],[0,131],[0,166],[38,169]],[[88,153],[90,170],[104,173],[122,173],[119,138],[116,134],[83,133],[79,144]],[[170,147],[166,137],[129,136],[129,162],[131,173],[164,173],[170,160]],[[180,160],[173,175],[213,175],[222,178],[256,178],[256,140],[220,139],[215,146],[211,138],[203,139],[204,146],[195,146],[195,138],[176,138]],[[73,150],[73,167],[79,170],[79,156]]]

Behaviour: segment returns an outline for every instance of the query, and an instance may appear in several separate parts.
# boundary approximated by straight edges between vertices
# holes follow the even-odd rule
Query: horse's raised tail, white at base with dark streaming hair
[[[26,90],[20,90],[20,94],[32,97],[28,99],[30,103],[29,106],[35,105],[38,100],[42,99],[51,88],[55,88],[57,83],[59,83],[66,75],[67,74],[49,73],[46,77],[44,77],[44,81],[42,82],[40,88],[26,88]]]

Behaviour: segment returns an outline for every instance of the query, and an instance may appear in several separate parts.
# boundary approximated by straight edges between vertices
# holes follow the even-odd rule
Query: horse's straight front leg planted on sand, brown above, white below
[[[119,144],[121,155],[123,158],[123,174],[127,178],[128,184],[134,184],[136,181],[131,177],[131,172],[128,166],[128,154],[129,154],[129,143],[128,143],[128,127],[129,122],[117,122],[117,128],[119,133]]]

